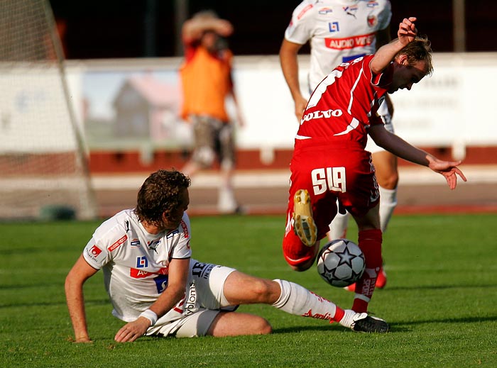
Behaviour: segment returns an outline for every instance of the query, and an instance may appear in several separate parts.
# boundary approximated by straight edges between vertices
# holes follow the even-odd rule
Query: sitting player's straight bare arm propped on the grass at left
[[[75,332],[75,342],[92,341],[88,335],[86,313],[84,312],[83,284],[97,271],[81,255],[65,279],[65,298],[72,329]]]

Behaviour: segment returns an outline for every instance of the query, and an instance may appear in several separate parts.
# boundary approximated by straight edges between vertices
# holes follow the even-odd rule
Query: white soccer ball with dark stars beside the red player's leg
[[[347,239],[327,242],[317,255],[317,272],[332,286],[354,284],[361,278],[365,267],[361,248]]]

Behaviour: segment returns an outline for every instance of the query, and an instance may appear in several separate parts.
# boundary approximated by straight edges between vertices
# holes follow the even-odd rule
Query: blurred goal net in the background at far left
[[[48,0],[1,0],[0,219],[96,216]]]

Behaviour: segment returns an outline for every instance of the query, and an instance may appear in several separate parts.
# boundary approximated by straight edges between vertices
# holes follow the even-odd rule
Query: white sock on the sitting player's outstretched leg
[[[296,316],[324,320],[330,320],[334,317],[337,306],[331,301],[327,301],[293,282],[280,279],[273,281],[278,282],[281,289],[280,298],[273,304],[275,308]]]

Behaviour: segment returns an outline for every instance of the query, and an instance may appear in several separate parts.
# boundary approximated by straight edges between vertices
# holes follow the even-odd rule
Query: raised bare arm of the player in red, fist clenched
[[[380,74],[390,64],[397,52],[402,50],[405,45],[412,42],[417,35],[417,28],[415,27],[415,17],[404,18],[402,23],[399,24],[398,38],[395,38],[391,43],[383,45],[376,51],[369,67],[373,74]]]

